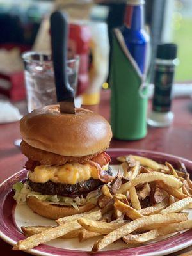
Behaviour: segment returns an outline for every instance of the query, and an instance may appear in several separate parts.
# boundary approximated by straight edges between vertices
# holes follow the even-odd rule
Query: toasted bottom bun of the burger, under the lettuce
[[[44,216],[46,218],[56,220],[65,216],[88,212],[92,210],[95,205],[92,203],[83,205],[76,210],[74,207],[49,204],[45,200],[39,200],[33,196],[27,198],[27,204],[33,212]]]

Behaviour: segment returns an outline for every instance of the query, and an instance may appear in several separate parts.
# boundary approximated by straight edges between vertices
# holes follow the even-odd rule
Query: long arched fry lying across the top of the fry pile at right
[[[165,184],[170,185],[173,188],[180,188],[183,185],[182,182],[180,182],[177,178],[173,177],[172,175],[166,175],[164,173],[159,172],[142,173],[138,175],[138,177],[130,180],[129,182],[122,184],[122,186],[120,186],[120,189],[118,190],[118,193],[123,194],[133,186],[156,180],[161,180]]]

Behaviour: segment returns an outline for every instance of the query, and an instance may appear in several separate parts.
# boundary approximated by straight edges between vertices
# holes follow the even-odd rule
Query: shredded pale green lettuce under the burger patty
[[[100,192],[98,189],[88,193],[85,198],[83,196],[70,198],[58,195],[42,195],[41,193],[33,191],[29,187],[28,182],[26,182],[25,184],[17,182],[15,185],[13,185],[13,189],[15,191],[15,195],[13,196],[13,198],[16,200],[17,204],[25,204],[26,198],[34,196],[39,200],[45,200],[47,204],[72,206],[75,209],[78,209],[79,206],[87,203],[92,203],[96,205],[97,199],[100,196]]]

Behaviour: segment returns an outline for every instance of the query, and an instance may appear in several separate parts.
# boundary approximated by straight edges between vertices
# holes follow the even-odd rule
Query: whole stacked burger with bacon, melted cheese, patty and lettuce
[[[58,105],[35,109],[20,120],[22,153],[28,178],[13,186],[18,204],[51,219],[90,211],[100,187],[114,177],[105,152],[112,137],[97,113],[76,108],[60,113]]]

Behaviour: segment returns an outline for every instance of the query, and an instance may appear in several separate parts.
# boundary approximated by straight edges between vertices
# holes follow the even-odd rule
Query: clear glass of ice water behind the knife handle
[[[56,88],[52,57],[40,52],[25,52],[22,55],[25,68],[28,111],[45,105],[56,104]],[[76,95],[79,57],[67,61],[67,75]]]

